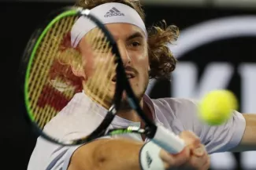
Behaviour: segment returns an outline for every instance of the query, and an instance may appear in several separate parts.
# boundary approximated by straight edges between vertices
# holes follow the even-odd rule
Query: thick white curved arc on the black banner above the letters
[[[256,16],[228,16],[196,24],[180,31],[176,45],[169,45],[180,58],[202,45],[228,38],[256,36]]]

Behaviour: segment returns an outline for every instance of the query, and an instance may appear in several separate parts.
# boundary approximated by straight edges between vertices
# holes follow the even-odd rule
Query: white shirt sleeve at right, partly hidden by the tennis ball
[[[197,101],[176,99],[174,103],[177,121],[180,121],[184,130],[191,130],[199,136],[209,154],[228,151],[239,145],[246,127],[243,114],[234,110],[232,118],[223,125],[210,126],[199,120]]]

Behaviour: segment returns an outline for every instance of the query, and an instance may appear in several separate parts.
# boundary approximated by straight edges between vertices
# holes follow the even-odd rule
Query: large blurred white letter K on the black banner
[[[173,72],[173,97],[201,99],[213,89],[225,89],[233,73],[230,63],[210,63],[198,83],[198,68],[195,63],[180,62]]]

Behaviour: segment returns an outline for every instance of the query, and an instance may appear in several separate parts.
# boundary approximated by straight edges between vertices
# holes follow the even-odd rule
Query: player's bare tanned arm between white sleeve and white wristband
[[[69,170],[140,170],[139,150],[142,146],[143,143],[128,139],[101,139],[88,143],[73,154]]]

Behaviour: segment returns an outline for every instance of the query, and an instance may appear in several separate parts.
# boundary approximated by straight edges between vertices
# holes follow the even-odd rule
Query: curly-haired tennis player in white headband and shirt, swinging
[[[151,27],[146,29],[144,13],[139,1],[134,0],[80,0],[78,5],[91,9],[109,29],[119,45],[124,66],[128,72],[135,95],[141,100],[143,110],[156,123],[180,135],[187,146],[180,154],[168,154],[151,143],[144,136],[129,134],[115,138],[97,139],[81,146],[61,146],[39,137],[28,164],[28,170],[163,170],[169,168],[208,169],[208,154],[224,151],[256,150],[256,115],[240,114],[234,110],[232,118],[224,125],[203,125],[197,118],[196,102],[191,99],[150,99],[144,92],[149,78],[167,77],[176,67],[176,60],[167,43],[175,42],[178,29],[175,26]],[[124,17],[125,16],[125,17]],[[65,45],[80,49],[84,56],[86,50],[83,37],[91,30],[84,29],[86,21],[77,20],[72,27],[69,40]],[[94,27],[92,27],[93,29]],[[90,57],[90,56],[87,56]],[[87,71],[72,69],[76,77],[86,78]],[[81,82],[82,83],[82,82]],[[84,120],[84,103],[87,96],[78,92],[70,103],[76,103],[76,111],[65,114],[69,105],[46,125],[45,129],[58,136],[69,136],[94,129],[91,122]],[[65,120],[72,128],[56,128]],[[81,122],[77,124],[76,122]],[[139,116],[128,105],[122,103],[121,111],[113,120],[111,127],[143,127]],[[150,148],[148,166],[139,155]]]

